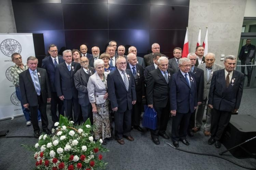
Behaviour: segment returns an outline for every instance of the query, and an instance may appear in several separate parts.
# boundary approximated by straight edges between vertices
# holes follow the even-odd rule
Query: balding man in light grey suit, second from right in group
[[[203,96],[202,96],[202,104],[198,106],[197,113],[196,113],[196,126],[192,129],[193,132],[198,132],[202,126],[202,119],[205,110],[205,105],[209,99],[209,89],[211,86],[212,74],[214,71],[223,69],[223,66],[215,64],[215,54],[208,53],[205,56],[205,63],[198,65],[198,68],[202,69],[204,72],[203,79],[204,79],[204,88],[203,88]],[[212,109],[207,107],[207,120],[204,125],[204,135],[210,136],[210,129],[211,129],[211,111]]]

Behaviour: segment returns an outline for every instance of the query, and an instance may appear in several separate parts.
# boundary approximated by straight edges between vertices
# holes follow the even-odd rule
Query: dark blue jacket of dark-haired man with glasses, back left
[[[58,61],[59,61],[59,64],[64,62],[62,56],[58,56]],[[51,56],[48,56],[42,60],[42,68],[46,69],[46,71],[47,71],[47,74],[48,74],[48,77],[50,80],[51,91],[56,92],[56,88],[55,88],[56,68],[53,64],[53,60],[52,60]]]

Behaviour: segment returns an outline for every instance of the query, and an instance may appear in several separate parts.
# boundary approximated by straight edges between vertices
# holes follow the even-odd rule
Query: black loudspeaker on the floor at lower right
[[[227,149],[230,149],[255,136],[256,118],[251,115],[232,115],[223,133],[222,143]],[[255,155],[256,139],[244,143],[241,147]],[[234,148],[229,152],[236,158],[251,158],[252,156],[241,147]]]

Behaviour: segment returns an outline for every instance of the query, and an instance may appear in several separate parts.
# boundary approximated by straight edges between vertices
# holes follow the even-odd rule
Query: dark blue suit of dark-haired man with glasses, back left
[[[64,62],[62,56],[59,55],[57,57],[58,57],[59,64]],[[51,96],[52,96],[51,114],[52,114],[52,121],[53,123],[55,123],[59,121],[59,117],[57,116],[57,105],[58,105],[59,115],[63,115],[63,116],[64,116],[64,106],[63,106],[63,102],[57,96],[56,87],[55,87],[56,67],[54,66],[51,56],[47,56],[42,60],[42,68],[46,69],[49,77],[49,81],[50,81],[50,89],[51,89]]]

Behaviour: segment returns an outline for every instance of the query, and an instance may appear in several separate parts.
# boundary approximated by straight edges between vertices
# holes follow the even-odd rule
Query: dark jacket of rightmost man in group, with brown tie
[[[233,82],[233,86],[232,84]],[[208,104],[220,111],[233,112],[239,109],[243,94],[244,74],[234,70],[228,88],[226,87],[225,70],[213,72],[209,91]]]

